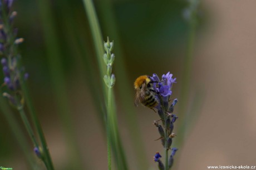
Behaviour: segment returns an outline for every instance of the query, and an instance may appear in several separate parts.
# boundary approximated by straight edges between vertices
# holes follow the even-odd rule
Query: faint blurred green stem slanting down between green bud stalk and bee
[[[117,97],[120,100],[120,107],[122,108],[122,112],[124,120],[127,123],[127,131],[129,132],[129,140],[131,141],[133,153],[140,159],[136,159],[133,163],[137,169],[148,169],[149,161],[146,158],[145,145],[142,143],[142,135],[139,127],[139,119],[138,114],[136,113],[133,100],[134,100],[134,91],[127,86],[130,84],[127,77],[127,70],[125,67],[125,59],[124,59],[124,51],[122,51],[122,40],[119,36],[119,29],[116,22],[116,14],[115,14],[115,5],[113,1],[106,0],[97,3],[97,9],[99,11],[99,16],[101,18],[101,24],[104,28],[104,31],[115,40],[115,55],[118,58],[115,59],[115,72],[116,77],[119,79],[119,83],[115,85],[117,90]]]

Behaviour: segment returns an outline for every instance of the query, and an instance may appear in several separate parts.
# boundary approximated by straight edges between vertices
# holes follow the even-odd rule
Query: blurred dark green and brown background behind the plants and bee
[[[173,169],[256,166],[256,2],[200,2],[191,61],[188,2],[94,4],[104,39],[115,43],[117,116],[129,169],[157,169],[152,157],[164,153],[154,141],[158,116],[134,108],[133,81],[168,71],[177,78],[173,98],[179,99]],[[29,89],[56,169],[73,169],[77,162],[82,169],[107,169],[106,129],[95,100],[101,78],[82,1],[15,1],[13,9],[18,36],[25,39],[20,51]],[[0,119],[0,166],[28,169],[3,114]]]

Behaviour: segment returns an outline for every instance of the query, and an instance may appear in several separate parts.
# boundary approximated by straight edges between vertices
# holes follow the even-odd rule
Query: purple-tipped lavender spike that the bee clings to
[[[159,99],[159,104],[155,107],[155,109],[157,109],[157,113],[160,116],[159,121],[161,121],[162,124],[160,125],[159,121],[154,121],[154,125],[157,127],[160,134],[159,140],[161,140],[161,144],[165,149],[165,164],[161,161],[161,155],[159,152],[156,152],[154,161],[158,163],[160,170],[168,170],[173,166],[174,155],[178,150],[175,147],[171,147],[173,138],[175,137],[175,133],[173,133],[174,123],[178,119],[178,117],[173,114],[174,106],[178,102],[178,99],[174,99],[170,104],[172,94],[171,87],[174,83],[176,83],[176,78],[173,79],[173,74],[168,72],[162,76],[161,81],[156,74],[152,75],[151,80],[155,82],[153,87],[156,92],[156,97]],[[169,156],[168,151],[170,149],[171,154]]]

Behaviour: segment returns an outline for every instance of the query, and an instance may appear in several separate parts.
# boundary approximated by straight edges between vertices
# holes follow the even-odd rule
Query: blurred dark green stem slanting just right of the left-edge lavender
[[[60,48],[60,39],[56,29],[56,20],[51,8],[51,1],[37,0],[40,16],[42,19],[43,38],[45,39],[46,56],[50,78],[52,83],[53,97],[57,104],[57,114],[65,135],[65,144],[68,150],[67,166],[70,169],[84,169],[82,165],[81,150],[78,148],[75,133],[75,122],[73,121],[68,95],[66,79],[63,74],[63,58]]]

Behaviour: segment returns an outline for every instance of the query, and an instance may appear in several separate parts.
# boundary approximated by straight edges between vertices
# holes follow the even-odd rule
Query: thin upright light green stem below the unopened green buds
[[[109,170],[111,170],[111,130],[110,130],[111,120],[110,120],[110,117],[111,117],[111,87],[109,87],[109,94],[107,96],[107,163],[109,165]]]

